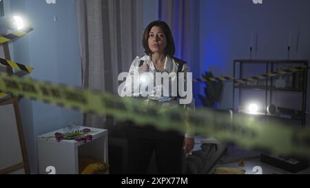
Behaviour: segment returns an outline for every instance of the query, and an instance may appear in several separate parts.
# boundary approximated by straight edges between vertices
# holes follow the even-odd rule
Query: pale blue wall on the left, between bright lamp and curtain
[[[11,1],[12,13],[23,14],[34,30],[14,41],[13,58],[34,67],[34,79],[81,87],[81,65],[76,23],[76,1]],[[54,18],[55,17],[55,18]],[[79,112],[37,101],[21,102],[23,127],[32,173],[38,169],[37,136],[64,127],[70,121],[82,122]]]

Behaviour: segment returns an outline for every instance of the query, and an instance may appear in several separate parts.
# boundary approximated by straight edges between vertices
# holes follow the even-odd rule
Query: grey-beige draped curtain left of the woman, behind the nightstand
[[[143,0],[77,0],[84,89],[117,94],[117,76],[143,54]],[[84,124],[109,128],[112,122],[85,114]]]

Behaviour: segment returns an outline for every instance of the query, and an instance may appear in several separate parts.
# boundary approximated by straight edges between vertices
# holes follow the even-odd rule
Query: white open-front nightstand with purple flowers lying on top
[[[44,138],[54,135],[56,132],[63,132],[63,129],[55,130],[38,136],[39,173],[49,174],[47,167],[54,167],[56,174],[79,174],[79,156],[94,156],[103,162],[107,160],[107,129],[89,128],[92,133],[92,140],[76,142],[75,140],[61,140],[55,138]]]

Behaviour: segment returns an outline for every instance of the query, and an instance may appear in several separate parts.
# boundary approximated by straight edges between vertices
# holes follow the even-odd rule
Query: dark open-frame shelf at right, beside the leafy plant
[[[257,68],[256,65],[261,64],[264,66],[260,66]],[[269,72],[273,72],[275,66],[278,65],[292,65],[293,67],[300,66],[300,65],[307,65],[309,64],[308,60],[276,60],[276,59],[236,59],[234,60],[234,77],[238,77],[240,79],[245,79],[245,72],[248,74],[254,74],[255,72],[261,72],[262,74],[267,74]],[[254,66],[255,65],[255,66]],[[255,70],[254,68],[258,69]],[[282,69],[285,69],[285,67],[282,67]],[[253,72],[249,72],[249,70],[253,70]],[[289,72],[291,74],[291,72]],[[232,109],[238,110],[242,106],[242,92],[245,92],[245,90],[249,91],[251,90],[252,92],[259,92],[259,96],[264,95],[263,97],[265,98],[265,105],[267,104],[272,104],[275,100],[273,98],[275,97],[280,97],[280,96],[285,96],[285,93],[290,93],[290,94],[300,94],[298,96],[300,99],[302,98],[301,101],[301,106],[298,106],[298,109],[301,110],[296,110],[294,113],[285,112],[285,108],[277,110],[276,114],[267,114],[266,112],[263,113],[258,113],[258,114],[251,114],[251,116],[257,116],[260,118],[261,116],[265,116],[267,119],[269,118],[280,118],[280,119],[285,119],[285,120],[292,120],[292,121],[300,121],[302,125],[305,125],[306,123],[306,118],[305,118],[305,111],[307,109],[307,80],[308,80],[308,71],[303,70],[300,72],[300,74],[291,74],[293,77],[292,81],[289,82],[289,85],[286,85],[287,87],[276,87],[276,81],[277,79],[267,76],[265,80],[263,81],[256,81],[254,83],[233,83],[233,105]],[[277,85],[278,86],[278,85]],[[285,86],[285,85],[284,85]],[[237,92],[236,93],[236,90]],[[239,90],[238,90],[239,89]],[[278,93],[278,95],[274,95],[273,93]],[[249,95],[249,93],[246,93]],[[236,97],[235,95],[238,96],[238,105],[235,104]],[[257,96],[258,94],[254,95]],[[278,104],[276,103],[275,105],[282,105],[282,106],[291,106],[294,103],[294,98],[292,96],[289,96],[291,100],[289,101],[282,101],[282,103],[288,103],[287,105],[285,104]],[[281,97],[280,97],[281,98]],[[288,99],[286,99],[288,100]],[[278,100],[281,101],[281,100]],[[266,110],[266,109],[265,109]],[[298,113],[296,113],[298,112]],[[245,114],[243,112],[242,114]],[[247,113],[249,114],[249,113]],[[287,121],[289,123],[290,121]],[[293,122],[295,123],[295,122]]]

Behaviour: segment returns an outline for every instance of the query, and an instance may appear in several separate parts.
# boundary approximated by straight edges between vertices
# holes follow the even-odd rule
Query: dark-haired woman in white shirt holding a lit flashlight
[[[188,72],[184,61],[174,58],[175,45],[172,32],[164,21],[153,21],[147,25],[143,34],[143,48],[145,56],[137,57],[132,62],[130,76],[135,73],[149,72]],[[182,64],[183,67],[179,67]],[[135,79],[134,82],[140,80]],[[130,83],[131,84],[131,83]],[[154,94],[145,97],[146,101],[156,101],[163,105],[176,105],[176,97],[158,96],[156,90],[161,90],[162,85],[156,85]],[[124,91],[124,90],[123,90]],[[136,92],[137,93],[137,92]],[[141,94],[141,92],[138,92]],[[128,131],[128,173],[146,174],[149,160],[155,152],[156,167],[160,174],[181,174],[183,153],[189,154],[194,147],[194,138],[181,135],[178,132],[162,132],[152,125],[136,127],[130,125]],[[184,150],[183,150],[184,149]]]

